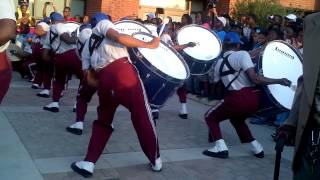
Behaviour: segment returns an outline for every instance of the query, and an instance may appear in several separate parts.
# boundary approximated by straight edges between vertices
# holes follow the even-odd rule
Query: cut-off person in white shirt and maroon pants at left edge
[[[16,18],[13,0],[0,3],[0,104],[9,89],[11,80],[11,63],[9,62],[6,49],[11,39],[16,35]]]

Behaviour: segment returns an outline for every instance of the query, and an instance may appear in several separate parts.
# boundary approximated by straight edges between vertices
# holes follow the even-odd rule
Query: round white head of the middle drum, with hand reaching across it
[[[195,42],[197,46],[186,48],[183,51],[194,59],[210,61],[217,58],[222,46],[218,36],[198,25],[188,25],[178,31],[177,41],[179,45]]]

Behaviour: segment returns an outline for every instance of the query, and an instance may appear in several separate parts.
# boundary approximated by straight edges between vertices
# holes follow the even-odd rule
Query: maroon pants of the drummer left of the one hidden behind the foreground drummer
[[[69,74],[75,74],[80,79],[80,83],[82,82],[83,73],[81,66],[81,60],[77,56],[75,49],[62,54],[57,54],[54,57],[54,81],[52,93],[52,100],[54,102],[59,102],[61,92],[64,89]]]

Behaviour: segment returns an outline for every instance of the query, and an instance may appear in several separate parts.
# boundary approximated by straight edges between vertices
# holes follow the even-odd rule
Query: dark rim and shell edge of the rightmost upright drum
[[[293,51],[297,54],[300,62],[302,63],[303,57],[302,57],[301,53],[300,53],[296,48],[294,48],[291,44],[289,44],[289,43],[287,43],[287,42],[285,42],[285,41],[283,41],[283,40],[273,40],[273,41],[267,43],[267,45],[263,48],[263,53],[261,53],[261,54],[259,55],[259,61],[258,61],[257,64],[258,64],[258,68],[259,68],[259,72],[258,72],[258,73],[259,73],[260,75],[263,75],[262,58],[263,58],[264,50],[267,48],[267,46],[268,46],[269,44],[274,43],[274,42],[283,43],[283,44],[287,45],[291,50],[293,50]],[[272,93],[271,93],[271,91],[270,91],[270,89],[269,89],[268,86],[263,86],[263,89],[264,89],[265,93],[267,94],[267,96],[270,98],[270,101],[271,101],[275,106],[277,106],[277,107],[280,108],[280,109],[290,110],[290,109],[284,107],[282,104],[280,104],[280,102],[278,102],[277,99],[276,99],[275,97],[273,97],[273,95],[272,95]]]

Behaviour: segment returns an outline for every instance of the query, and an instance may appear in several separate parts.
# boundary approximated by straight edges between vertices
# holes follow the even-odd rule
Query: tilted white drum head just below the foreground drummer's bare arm
[[[149,42],[152,37],[144,34],[133,35],[136,39]],[[157,49],[139,48],[140,53],[158,70],[174,77],[176,79],[185,80],[188,78],[188,73],[183,62],[169,49],[163,42]]]

